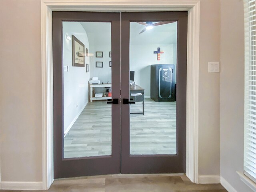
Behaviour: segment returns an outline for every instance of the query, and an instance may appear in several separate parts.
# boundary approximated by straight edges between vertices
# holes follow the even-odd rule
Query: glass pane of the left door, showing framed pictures
[[[64,158],[111,155],[111,23],[62,26]]]

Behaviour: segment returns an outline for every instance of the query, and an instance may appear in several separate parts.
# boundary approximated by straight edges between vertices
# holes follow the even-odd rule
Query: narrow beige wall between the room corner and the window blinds
[[[244,162],[243,3],[220,2],[220,176],[236,191],[250,192],[236,173]]]

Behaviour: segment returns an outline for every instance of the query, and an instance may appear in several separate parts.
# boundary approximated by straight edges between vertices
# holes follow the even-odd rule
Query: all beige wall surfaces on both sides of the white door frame
[[[243,2],[200,3],[199,174],[220,173],[245,191],[235,173],[243,158]],[[1,180],[40,182],[40,1],[2,0],[0,14]],[[220,74],[208,74],[208,62],[218,60]]]

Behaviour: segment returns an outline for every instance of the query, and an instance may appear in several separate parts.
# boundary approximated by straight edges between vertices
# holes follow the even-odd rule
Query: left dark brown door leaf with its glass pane
[[[120,173],[120,13],[52,16],[54,178]]]

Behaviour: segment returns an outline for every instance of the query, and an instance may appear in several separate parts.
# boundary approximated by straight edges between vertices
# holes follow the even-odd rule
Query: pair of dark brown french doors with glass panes
[[[52,15],[54,178],[185,173],[187,12]]]

